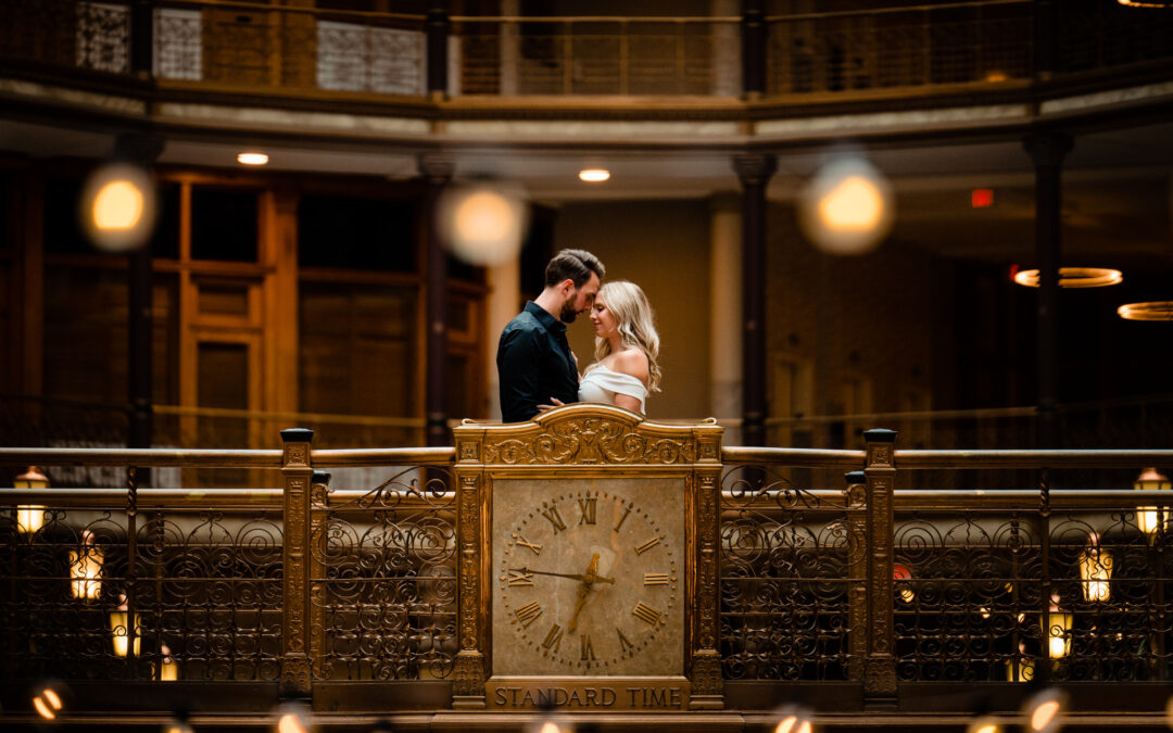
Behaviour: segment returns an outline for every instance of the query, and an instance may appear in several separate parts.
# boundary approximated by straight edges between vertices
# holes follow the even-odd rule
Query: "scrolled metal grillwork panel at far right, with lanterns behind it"
[[[1132,509],[1049,521],[1004,510],[914,514],[895,535],[896,563],[910,576],[895,593],[897,674],[1167,679],[1167,544],[1165,534],[1147,537]]]

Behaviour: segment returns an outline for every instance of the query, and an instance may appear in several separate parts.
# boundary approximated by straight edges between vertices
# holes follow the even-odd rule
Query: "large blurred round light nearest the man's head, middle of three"
[[[513,186],[453,186],[440,202],[440,229],[454,256],[493,266],[521,251],[528,211],[524,195]]]

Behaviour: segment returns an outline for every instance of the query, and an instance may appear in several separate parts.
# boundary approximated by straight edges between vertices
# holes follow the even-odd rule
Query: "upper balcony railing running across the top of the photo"
[[[13,0],[0,56],[57,70],[150,75],[209,90],[348,91],[394,97],[653,95],[737,97],[740,16],[450,16],[249,2]],[[984,0],[764,16],[764,95],[1004,88],[1036,76],[1036,4]],[[1173,13],[1057,4],[1056,75],[1173,57]],[[137,34],[136,34],[137,29]],[[149,45],[145,54],[135,52]],[[439,68],[442,67],[442,73]],[[754,63],[754,61],[751,61]],[[445,81],[446,80],[446,81]],[[436,88],[438,84],[442,84]],[[998,86],[1002,87],[998,87]],[[865,95],[872,96],[872,95]]]

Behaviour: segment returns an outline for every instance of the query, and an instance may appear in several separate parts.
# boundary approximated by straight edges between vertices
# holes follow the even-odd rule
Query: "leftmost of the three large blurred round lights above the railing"
[[[82,189],[82,228],[97,249],[127,252],[150,237],[155,199],[155,182],[142,168],[103,165],[90,174]]]

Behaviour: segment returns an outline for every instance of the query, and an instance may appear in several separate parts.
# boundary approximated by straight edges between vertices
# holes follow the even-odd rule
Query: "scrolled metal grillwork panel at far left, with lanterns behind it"
[[[7,679],[277,678],[278,511],[43,513],[34,534],[0,515]]]

